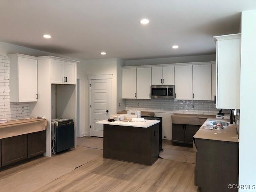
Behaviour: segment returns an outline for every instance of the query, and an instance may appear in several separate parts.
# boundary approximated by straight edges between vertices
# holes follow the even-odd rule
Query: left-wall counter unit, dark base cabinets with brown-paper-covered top
[[[45,119],[12,120],[0,124],[0,169],[46,152]]]

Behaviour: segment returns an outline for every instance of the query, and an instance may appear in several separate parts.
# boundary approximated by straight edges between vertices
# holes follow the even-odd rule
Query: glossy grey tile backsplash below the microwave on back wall
[[[126,99],[126,110],[141,110],[162,113],[216,115],[214,101],[170,99]]]

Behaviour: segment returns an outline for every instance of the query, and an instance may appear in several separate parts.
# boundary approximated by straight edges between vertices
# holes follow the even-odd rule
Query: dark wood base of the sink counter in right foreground
[[[195,138],[195,185],[201,192],[238,192],[239,143]]]

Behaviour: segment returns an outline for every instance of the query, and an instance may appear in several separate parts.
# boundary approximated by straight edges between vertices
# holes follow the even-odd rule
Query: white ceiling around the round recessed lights
[[[134,59],[215,53],[212,36],[239,32],[240,12],[256,9],[256,0],[0,0],[0,8],[0,41],[81,59]]]

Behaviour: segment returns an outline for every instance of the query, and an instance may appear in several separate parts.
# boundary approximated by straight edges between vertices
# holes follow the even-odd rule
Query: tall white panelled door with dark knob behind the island
[[[110,80],[91,80],[91,106],[90,106],[90,134],[91,136],[103,137],[103,125],[95,122],[110,117]]]

